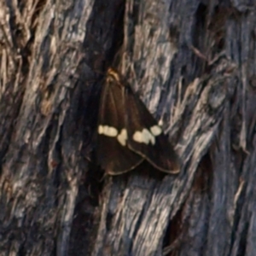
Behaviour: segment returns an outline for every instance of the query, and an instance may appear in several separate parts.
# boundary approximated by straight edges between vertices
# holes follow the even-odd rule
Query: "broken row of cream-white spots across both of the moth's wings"
[[[98,133],[103,134],[108,137],[117,137],[117,140],[122,146],[126,145],[126,141],[128,138],[127,130],[122,129],[120,132],[111,126],[108,125],[99,125],[98,127]],[[159,125],[154,125],[150,127],[150,131],[148,129],[144,128],[143,131],[136,131],[132,139],[137,143],[145,143],[148,145],[148,143],[151,143],[154,145],[155,143],[155,137],[159,136],[162,133],[162,129]]]

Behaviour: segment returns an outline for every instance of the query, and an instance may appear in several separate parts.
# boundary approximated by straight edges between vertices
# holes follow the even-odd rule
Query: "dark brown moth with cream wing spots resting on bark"
[[[98,116],[98,164],[108,174],[118,175],[143,160],[162,172],[179,172],[177,154],[160,125],[130,85],[109,67]]]

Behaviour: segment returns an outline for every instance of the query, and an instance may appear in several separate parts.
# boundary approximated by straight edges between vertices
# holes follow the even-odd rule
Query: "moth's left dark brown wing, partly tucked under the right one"
[[[111,175],[129,172],[143,161],[139,154],[127,147],[127,140],[124,140],[125,145],[122,145],[117,136],[99,134],[102,127],[111,127],[113,131],[116,129],[118,134],[123,129],[126,131],[127,113],[124,97],[125,88],[115,80],[107,80],[103,84],[98,117],[97,161],[102,169]]]

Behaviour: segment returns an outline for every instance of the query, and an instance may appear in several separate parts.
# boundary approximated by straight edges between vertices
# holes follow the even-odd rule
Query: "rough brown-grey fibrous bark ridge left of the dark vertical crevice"
[[[92,9],[71,2],[0,1],[1,255],[66,255],[70,244],[89,96],[74,78]]]

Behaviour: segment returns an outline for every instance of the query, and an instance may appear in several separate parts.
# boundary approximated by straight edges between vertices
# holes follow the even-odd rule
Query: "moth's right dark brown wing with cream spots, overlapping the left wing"
[[[125,90],[125,103],[129,148],[162,172],[179,172],[179,160],[168,138],[130,87]]]

